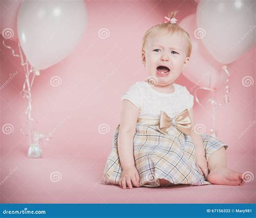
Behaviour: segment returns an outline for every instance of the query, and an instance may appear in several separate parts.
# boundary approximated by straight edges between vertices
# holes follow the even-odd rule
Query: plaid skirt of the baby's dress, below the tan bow
[[[113,135],[112,151],[104,169],[104,184],[119,185],[122,168],[119,161],[117,142],[119,126]],[[228,145],[218,138],[200,134],[203,139],[206,159],[214,152]],[[175,126],[171,126],[168,135],[161,133],[156,125],[136,124],[133,138],[133,155],[138,170],[139,186],[160,186],[159,179],[172,184],[207,185],[196,165],[195,148],[189,135],[184,135]]]

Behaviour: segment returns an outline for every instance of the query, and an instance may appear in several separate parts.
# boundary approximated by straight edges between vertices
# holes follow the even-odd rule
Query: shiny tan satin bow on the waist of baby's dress
[[[179,131],[186,135],[189,135],[192,129],[192,122],[187,109],[173,118],[169,117],[166,112],[161,110],[159,121],[160,122],[159,125],[157,125],[157,129],[164,135],[168,135],[168,130],[172,125],[176,126]]]

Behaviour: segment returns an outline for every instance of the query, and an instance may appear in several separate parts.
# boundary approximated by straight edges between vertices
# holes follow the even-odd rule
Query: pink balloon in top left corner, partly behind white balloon
[[[17,16],[22,0],[0,1],[0,31],[4,39],[18,40]]]

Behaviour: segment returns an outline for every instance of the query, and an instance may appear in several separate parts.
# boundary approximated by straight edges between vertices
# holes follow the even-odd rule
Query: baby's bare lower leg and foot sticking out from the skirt
[[[208,158],[210,173],[208,174],[207,181],[217,185],[243,185],[245,180],[242,179],[242,173],[230,170],[226,166],[226,150],[225,147],[221,147]]]

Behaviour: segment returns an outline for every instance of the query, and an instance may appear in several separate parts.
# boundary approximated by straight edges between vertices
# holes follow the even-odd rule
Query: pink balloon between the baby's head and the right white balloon
[[[184,76],[200,87],[217,88],[223,85],[227,75],[223,65],[211,56],[198,37],[200,29],[196,26],[196,14],[185,17],[179,25],[190,34],[192,41],[190,62],[183,72]]]

